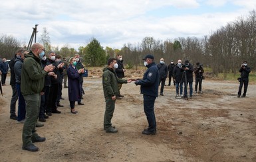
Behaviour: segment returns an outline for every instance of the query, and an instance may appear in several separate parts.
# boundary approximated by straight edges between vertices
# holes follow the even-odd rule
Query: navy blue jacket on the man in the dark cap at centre
[[[159,86],[159,71],[156,63],[152,62],[147,65],[148,69],[145,71],[143,79],[138,81],[140,86],[140,93],[143,95],[158,97]]]

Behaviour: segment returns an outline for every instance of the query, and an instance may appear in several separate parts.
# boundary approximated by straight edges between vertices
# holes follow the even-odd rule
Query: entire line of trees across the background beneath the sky
[[[80,54],[83,63],[88,66],[102,66],[110,57],[122,54],[124,64],[129,68],[137,69],[143,65],[142,58],[146,54],[153,54],[155,61],[164,58],[167,64],[171,60],[189,60],[195,65],[196,62],[203,63],[204,67],[210,67],[213,75],[238,72],[239,66],[247,60],[252,70],[256,56],[256,13],[251,11],[247,17],[239,17],[234,22],[213,31],[209,36],[203,38],[188,37],[166,40],[156,40],[153,37],[145,37],[137,44],[127,43],[119,49],[100,46],[96,38],[92,38],[86,46],[80,46],[78,50],[69,48],[68,45],[59,49],[51,46],[47,28],[43,29],[39,40],[44,46],[46,53],[54,50],[63,57],[71,57]],[[13,58],[13,54],[21,43],[13,36],[0,36],[0,58]],[[23,45],[25,48],[25,45]]]

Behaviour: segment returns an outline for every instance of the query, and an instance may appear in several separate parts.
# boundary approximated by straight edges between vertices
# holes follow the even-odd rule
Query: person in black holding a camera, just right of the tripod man
[[[197,85],[199,83],[199,91],[198,93],[201,93],[201,83],[203,81],[203,65],[200,65],[199,62],[196,63],[195,70],[193,71],[195,73],[195,93],[197,93]]]

